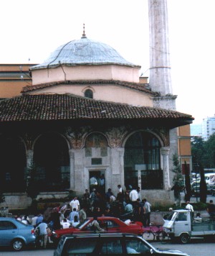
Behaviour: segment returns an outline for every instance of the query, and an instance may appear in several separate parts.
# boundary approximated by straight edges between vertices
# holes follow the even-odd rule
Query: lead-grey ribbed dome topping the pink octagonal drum
[[[113,47],[102,42],[82,37],[80,40],[72,40],[61,45],[51,53],[44,63],[31,68],[55,68],[61,65],[128,65],[139,67],[125,60]]]

